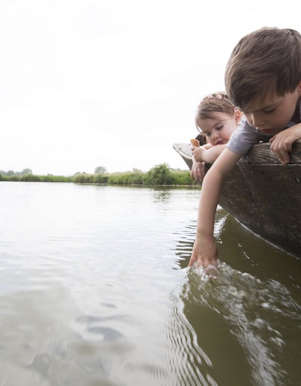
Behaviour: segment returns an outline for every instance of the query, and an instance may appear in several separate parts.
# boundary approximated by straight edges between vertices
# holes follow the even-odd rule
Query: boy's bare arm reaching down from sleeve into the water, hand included
[[[228,148],[222,152],[207,172],[201,188],[197,235],[189,266],[195,262],[203,267],[217,265],[217,248],[213,238],[214,217],[224,179],[242,154]]]

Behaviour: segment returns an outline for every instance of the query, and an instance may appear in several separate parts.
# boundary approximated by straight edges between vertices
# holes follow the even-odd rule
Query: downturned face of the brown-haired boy
[[[263,134],[275,135],[292,119],[300,95],[299,85],[294,92],[287,92],[282,96],[269,94],[264,101],[260,98],[255,99],[251,102],[248,111],[244,112],[246,119]]]

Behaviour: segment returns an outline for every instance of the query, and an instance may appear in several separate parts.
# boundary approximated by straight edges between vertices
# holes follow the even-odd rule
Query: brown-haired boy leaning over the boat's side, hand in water
[[[225,72],[226,91],[245,117],[206,174],[201,189],[197,236],[189,266],[217,265],[214,214],[222,183],[242,154],[270,142],[282,164],[301,138],[301,35],[295,30],[262,28],[235,46]]]

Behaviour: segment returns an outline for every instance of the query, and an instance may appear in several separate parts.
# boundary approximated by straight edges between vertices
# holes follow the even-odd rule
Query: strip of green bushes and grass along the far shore
[[[26,170],[28,171],[28,170]],[[31,171],[31,170],[30,170]],[[11,171],[10,171],[11,172]],[[12,174],[13,173],[13,174]],[[75,173],[73,176],[46,176],[33,173],[9,173],[0,171],[0,181],[21,182],[73,182],[88,184],[116,184],[116,185],[182,185],[200,186],[196,180],[190,178],[190,171],[171,169],[168,164],[155,165],[148,172],[133,169],[132,172],[120,173]]]

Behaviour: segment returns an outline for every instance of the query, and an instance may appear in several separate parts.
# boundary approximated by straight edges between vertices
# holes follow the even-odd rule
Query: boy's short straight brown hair
[[[225,71],[227,94],[247,110],[268,92],[293,92],[301,81],[301,35],[296,30],[263,27],[244,36],[234,47]]]

